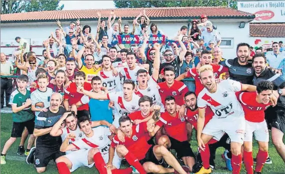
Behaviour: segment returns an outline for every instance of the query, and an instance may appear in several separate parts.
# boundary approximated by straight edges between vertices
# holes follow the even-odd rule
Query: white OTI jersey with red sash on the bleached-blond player
[[[217,84],[217,91],[210,93],[204,88],[197,97],[197,105],[200,108],[210,106],[214,112],[213,118],[234,119],[244,117],[241,104],[236,98],[235,92],[241,90],[241,83],[227,79]]]

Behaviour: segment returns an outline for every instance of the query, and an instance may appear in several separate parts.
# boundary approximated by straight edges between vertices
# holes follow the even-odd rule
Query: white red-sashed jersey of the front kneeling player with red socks
[[[108,135],[111,135],[109,127],[98,126],[92,128],[93,136],[87,137],[84,136],[74,141],[72,144],[77,147],[77,149],[90,149],[90,148],[99,148],[102,156],[109,153],[109,147],[111,140],[108,138]]]

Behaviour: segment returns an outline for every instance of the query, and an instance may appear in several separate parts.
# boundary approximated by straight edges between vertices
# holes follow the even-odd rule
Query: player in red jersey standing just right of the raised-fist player
[[[183,105],[183,96],[188,91],[187,86],[183,82],[174,79],[175,69],[173,66],[169,65],[164,67],[163,73],[165,81],[158,83],[158,89],[162,103],[165,104],[165,98],[168,95],[171,95],[175,98],[175,102],[177,105]]]

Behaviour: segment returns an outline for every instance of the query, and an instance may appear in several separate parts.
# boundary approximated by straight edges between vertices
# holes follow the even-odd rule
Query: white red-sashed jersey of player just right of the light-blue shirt
[[[134,111],[139,110],[139,99],[140,96],[133,93],[133,97],[131,101],[126,101],[124,99],[124,93],[123,91],[119,92],[111,92],[107,94],[108,99],[114,101],[114,107],[113,110],[114,117],[121,117],[123,115],[128,115],[129,113],[132,113]]]

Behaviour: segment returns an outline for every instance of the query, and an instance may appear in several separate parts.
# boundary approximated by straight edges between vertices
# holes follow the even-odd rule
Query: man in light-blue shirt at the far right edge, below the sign
[[[281,61],[285,58],[285,52],[280,52],[278,42],[272,43],[273,52],[266,54],[268,65],[273,68],[278,68]]]

